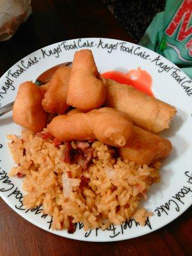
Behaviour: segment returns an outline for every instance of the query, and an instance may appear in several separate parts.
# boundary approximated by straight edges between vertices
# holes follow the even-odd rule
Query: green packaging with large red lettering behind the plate
[[[192,79],[192,0],[167,0],[141,39]]]

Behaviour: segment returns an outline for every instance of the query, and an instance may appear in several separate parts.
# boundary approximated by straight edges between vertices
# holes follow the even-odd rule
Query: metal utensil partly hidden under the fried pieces
[[[52,75],[54,74],[54,72],[56,72],[56,70],[58,68],[60,68],[61,66],[70,66],[71,64],[72,64],[72,62],[68,61],[68,62],[61,63],[61,64],[58,64],[58,65],[52,67],[52,68],[47,69],[45,72],[43,72],[42,74],[40,74],[40,76],[38,76],[36,78],[35,84],[38,85],[38,86],[41,86],[42,84],[45,84],[45,83],[49,82]],[[4,114],[11,111],[13,109],[13,104],[14,104],[14,101],[12,101],[9,104],[6,104],[5,106],[1,107],[0,108],[0,116],[3,116]]]

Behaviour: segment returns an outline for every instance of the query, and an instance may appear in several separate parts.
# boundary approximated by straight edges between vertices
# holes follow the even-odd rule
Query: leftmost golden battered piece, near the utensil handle
[[[40,88],[31,81],[20,84],[13,105],[14,122],[33,132],[42,131],[47,122],[42,97]]]

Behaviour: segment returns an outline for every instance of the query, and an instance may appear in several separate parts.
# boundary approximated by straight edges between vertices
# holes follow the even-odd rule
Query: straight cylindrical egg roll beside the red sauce
[[[106,79],[106,106],[129,115],[133,123],[150,132],[160,132],[169,128],[175,107],[150,97],[132,86]]]

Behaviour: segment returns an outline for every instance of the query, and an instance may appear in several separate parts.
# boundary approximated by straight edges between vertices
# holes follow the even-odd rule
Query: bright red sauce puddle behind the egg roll
[[[141,68],[129,70],[127,73],[109,71],[101,74],[101,77],[113,79],[118,83],[132,85],[134,88],[154,97],[152,92],[152,77]]]

